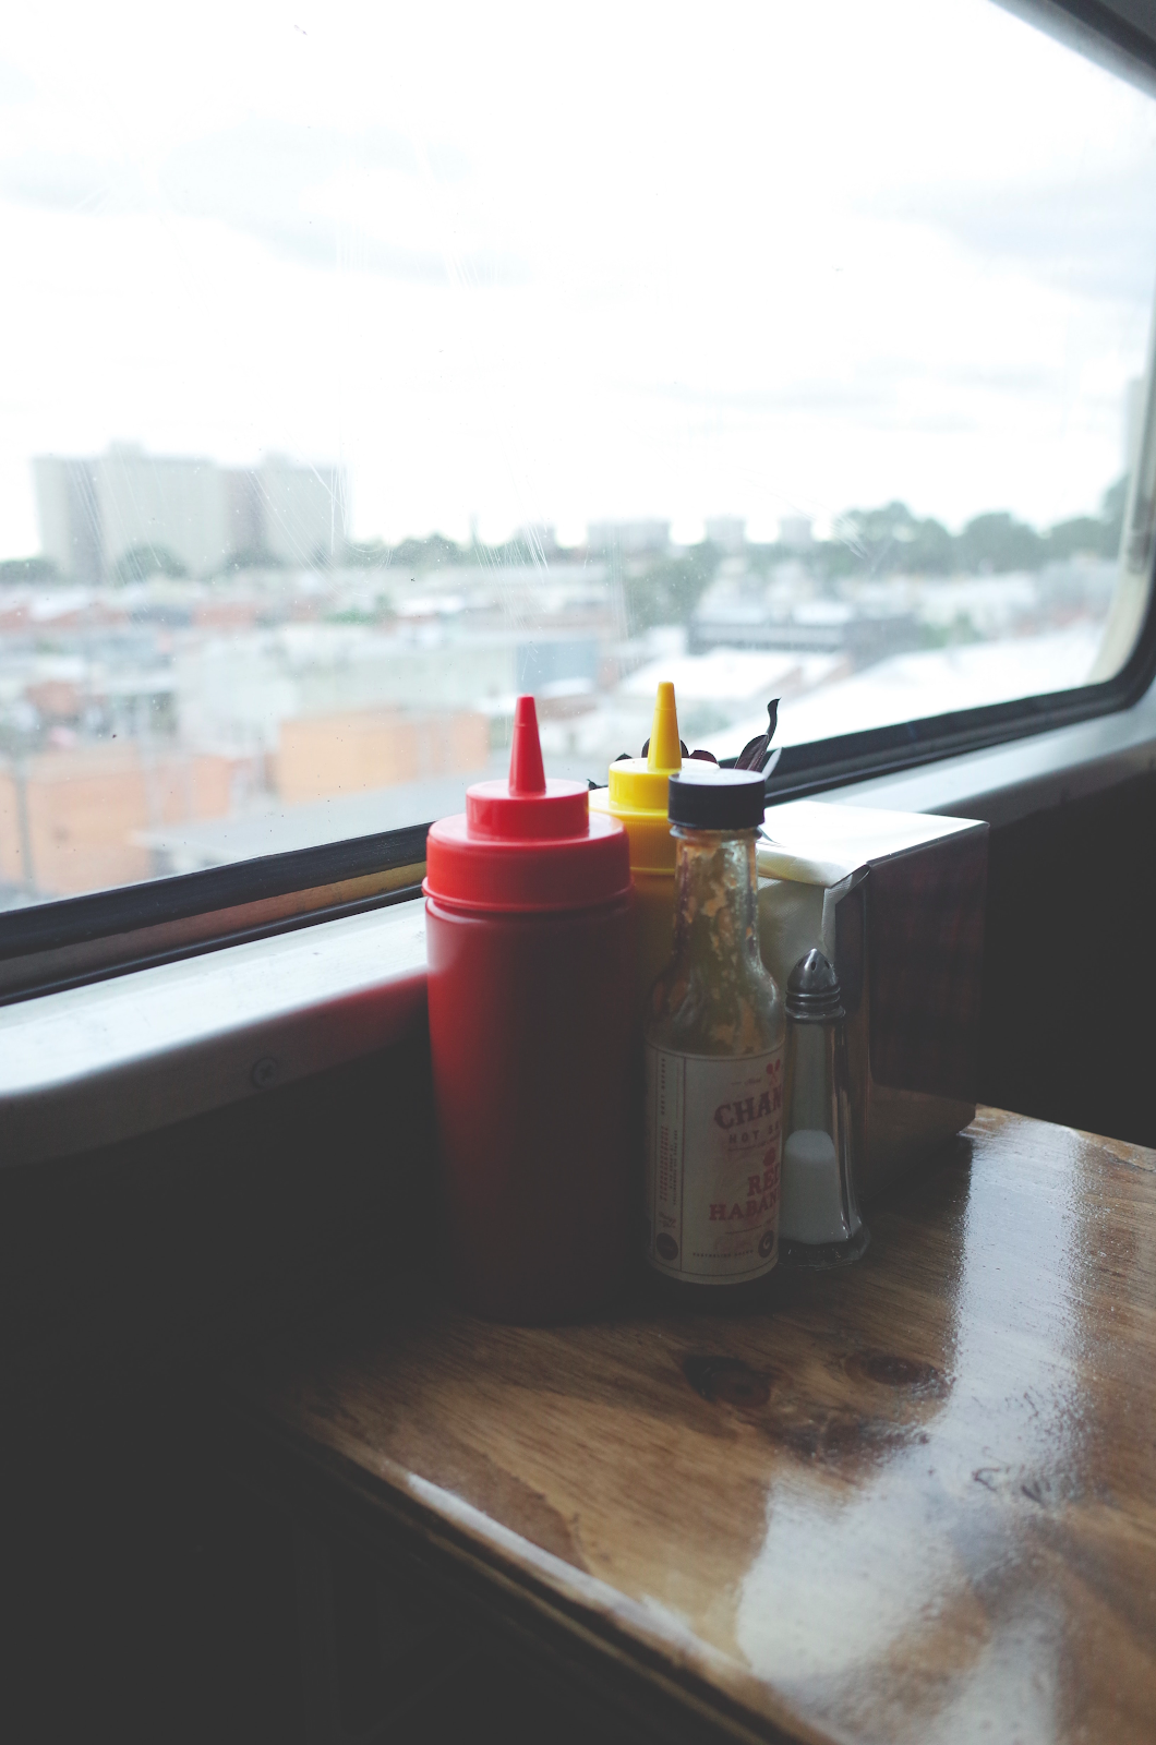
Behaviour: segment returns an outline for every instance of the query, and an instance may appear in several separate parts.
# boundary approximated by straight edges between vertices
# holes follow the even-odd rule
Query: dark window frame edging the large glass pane
[[[995,3],[1156,96],[1154,0]],[[788,745],[768,777],[768,803],[1132,708],[1156,679],[1156,539],[1153,544],[1142,628],[1112,679]],[[412,900],[421,895],[430,822],[2,911],[0,1005]]]

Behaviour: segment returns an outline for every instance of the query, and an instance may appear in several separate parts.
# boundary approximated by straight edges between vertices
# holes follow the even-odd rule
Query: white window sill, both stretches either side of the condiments
[[[1008,824],[1156,770],[1156,696],[821,796]],[[426,1021],[424,906],[0,1009],[0,1166],[66,1157],[389,1047]]]

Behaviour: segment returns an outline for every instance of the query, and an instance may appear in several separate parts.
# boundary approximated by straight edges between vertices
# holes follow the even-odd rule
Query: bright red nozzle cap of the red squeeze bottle
[[[587,909],[630,886],[627,832],[590,811],[583,782],[547,778],[533,696],[519,696],[506,782],[475,782],[466,810],[426,838],[428,897],[468,909]]]

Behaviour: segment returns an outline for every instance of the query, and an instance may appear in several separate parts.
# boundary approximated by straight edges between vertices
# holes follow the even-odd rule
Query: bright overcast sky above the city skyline
[[[1123,469],[1156,103],[988,0],[38,5],[0,44],[0,555],[28,461],[339,461],[360,537]]]

